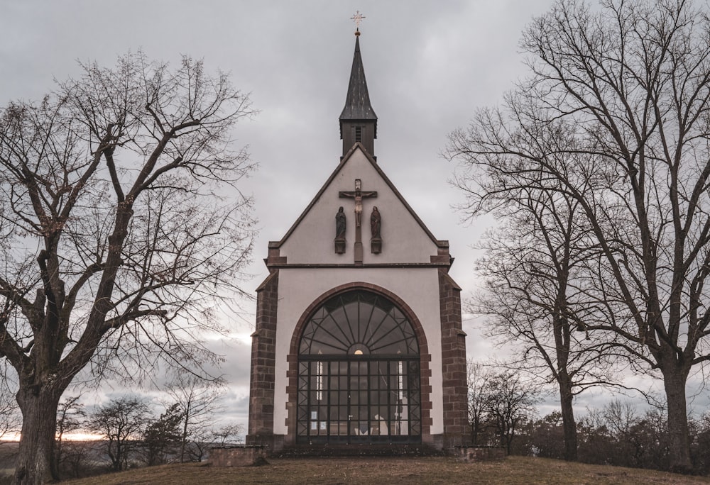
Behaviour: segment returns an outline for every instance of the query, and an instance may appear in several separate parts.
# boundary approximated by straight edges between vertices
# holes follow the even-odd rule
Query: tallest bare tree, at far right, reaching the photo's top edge
[[[523,34],[530,79],[451,135],[462,177],[579,203],[610,334],[663,379],[670,461],[691,470],[686,385],[710,359],[710,18],[690,0],[559,0]],[[496,187],[500,184],[495,184]],[[493,194],[471,186],[472,211]]]

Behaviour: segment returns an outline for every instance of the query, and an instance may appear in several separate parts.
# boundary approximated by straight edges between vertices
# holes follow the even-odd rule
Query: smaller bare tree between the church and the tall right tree
[[[515,347],[509,367],[524,364],[527,372],[556,384],[564,458],[575,460],[574,396],[618,384],[615,342],[588,330],[608,320],[611,309],[589,294],[589,264],[598,260],[599,250],[577,201],[529,186],[508,191],[498,182],[491,207],[501,223],[480,244],[486,254],[477,269],[485,286],[471,310],[488,317],[488,336]]]

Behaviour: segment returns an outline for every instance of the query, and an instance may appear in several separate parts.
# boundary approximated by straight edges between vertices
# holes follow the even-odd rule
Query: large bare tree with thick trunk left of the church
[[[224,332],[214,308],[241,294],[251,250],[236,183],[253,166],[227,148],[248,96],[187,57],[82,69],[0,112],[0,358],[18,378],[18,484],[56,477],[55,411],[89,363],[125,379],[217,359],[201,335]]]

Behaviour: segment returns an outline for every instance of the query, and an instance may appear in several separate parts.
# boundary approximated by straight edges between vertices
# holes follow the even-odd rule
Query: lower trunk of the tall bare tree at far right
[[[663,385],[668,408],[670,469],[676,473],[692,472],[690,438],[685,396],[687,372],[679,366],[663,366]]]

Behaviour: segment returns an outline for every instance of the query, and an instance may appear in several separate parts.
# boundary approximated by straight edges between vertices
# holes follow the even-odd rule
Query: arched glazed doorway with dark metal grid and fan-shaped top
[[[421,442],[420,354],[393,301],[366,289],[331,296],[298,347],[298,443]]]

